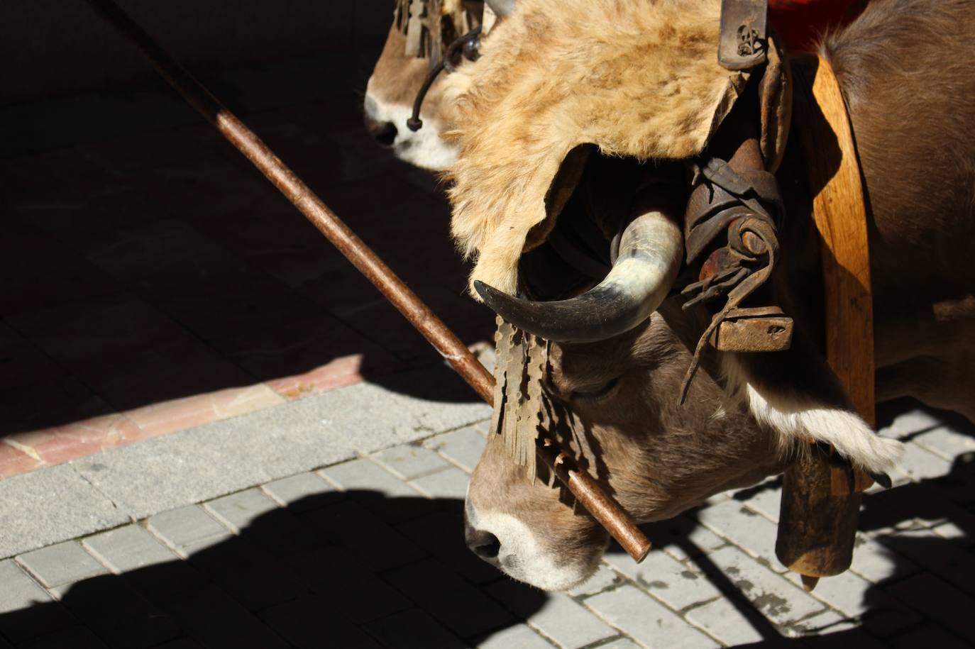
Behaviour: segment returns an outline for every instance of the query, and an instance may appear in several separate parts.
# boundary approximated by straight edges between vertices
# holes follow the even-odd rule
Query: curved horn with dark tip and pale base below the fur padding
[[[681,270],[683,236],[662,211],[647,211],[626,227],[619,256],[598,286],[555,302],[533,302],[483,282],[474,288],[497,315],[546,340],[595,342],[629,331],[656,311]]]

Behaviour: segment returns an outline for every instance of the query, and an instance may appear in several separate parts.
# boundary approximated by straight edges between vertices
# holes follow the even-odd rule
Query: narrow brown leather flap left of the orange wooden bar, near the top
[[[770,30],[771,31],[771,30]],[[792,70],[785,51],[779,46],[778,36],[768,35],[767,63],[759,82],[759,109],[761,113],[761,156],[765,169],[776,172],[782,163],[792,123]]]

